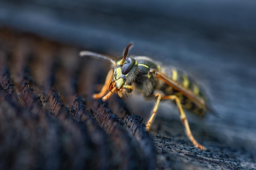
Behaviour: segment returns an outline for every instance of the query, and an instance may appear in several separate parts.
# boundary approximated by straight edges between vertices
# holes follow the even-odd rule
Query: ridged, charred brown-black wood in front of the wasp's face
[[[141,119],[118,97],[108,105],[119,117],[91,98],[104,70],[72,46],[0,33],[1,170],[155,169],[155,146]]]

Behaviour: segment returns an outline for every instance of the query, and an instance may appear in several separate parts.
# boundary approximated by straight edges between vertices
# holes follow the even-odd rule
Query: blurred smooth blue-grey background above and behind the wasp
[[[133,42],[130,54],[182,68],[205,88],[218,117],[187,114],[192,124],[255,158],[255,9],[255,0],[1,0],[0,26],[113,57]],[[179,119],[171,107],[157,116]]]

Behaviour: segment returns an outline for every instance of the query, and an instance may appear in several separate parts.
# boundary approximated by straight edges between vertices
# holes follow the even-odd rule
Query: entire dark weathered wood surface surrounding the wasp
[[[154,165],[157,169],[255,168],[255,2],[196,2],[149,1],[148,7],[133,1],[0,2],[1,26],[15,30],[0,32],[1,160],[9,160],[8,166],[3,162],[1,166],[15,169],[39,163],[44,169],[74,168],[77,161],[85,162],[79,164],[81,169],[85,165],[90,165],[88,169],[95,165],[98,169]],[[177,110],[169,102],[160,104],[151,138],[141,129],[147,136],[145,144],[144,137],[141,140],[129,132],[128,120],[140,127],[140,119],[124,115],[140,115],[145,123],[153,102],[145,102],[136,93],[123,100],[113,96],[103,106],[91,98],[110,65],[81,59],[79,51],[114,57],[121,55],[129,42],[135,43],[131,54],[183,68],[204,86],[218,116],[187,116],[195,138],[208,150],[192,148]],[[124,118],[111,118],[120,124],[119,135],[125,131],[121,144],[113,143],[118,138],[99,123],[97,114],[104,112],[97,111],[98,107]],[[128,148],[118,147],[124,149],[119,151],[115,148],[118,144]],[[69,150],[61,152],[66,147]],[[80,155],[75,154],[79,150]],[[117,159],[120,155],[126,160],[122,165]]]

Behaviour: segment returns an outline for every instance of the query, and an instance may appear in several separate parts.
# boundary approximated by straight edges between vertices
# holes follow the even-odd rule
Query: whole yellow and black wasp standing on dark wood
[[[201,93],[200,86],[186,72],[177,70],[175,67],[162,66],[160,63],[145,56],[127,56],[131,46],[132,43],[126,46],[124,56],[117,62],[109,57],[90,51],[80,52],[80,56],[91,56],[113,64],[113,68],[108,72],[101,92],[94,94],[93,97],[95,99],[102,97],[102,100],[105,101],[115,92],[119,97],[123,97],[124,94],[131,93],[135,86],[145,98],[156,99],[155,106],[146,124],[146,130],[149,130],[151,122],[157,113],[159,102],[161,100],[171,100],[177,105],[180,119],[190,141],[197,148],[204,150],[204,146],[198,144],[194,139],[183,109],[185,108],[200,116],[203,116],[206,110],[209,109]],[[107,93],[108,90],[109,92]],[[162,93],[155,94],[156,90],[162,91]]]

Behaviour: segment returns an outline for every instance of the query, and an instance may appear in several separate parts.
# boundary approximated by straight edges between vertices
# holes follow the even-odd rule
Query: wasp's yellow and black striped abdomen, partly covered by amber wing
[[[195,82],[195,80],[192,79],[186,72],[175,67],[163,68],[163,71],[168,78],[177,83],[179,86],[182,86],[183,89],[177,90],[169,84],[164,83],[160,88],[164,95],[177,95],[183,108],[197,115],[203,116],[206,111],[205,100],[204,96],[202,95],[202,89]],[[184,91],[189,92],[191,95],[186,95],[187,93],[183,93]],[[204,104],[198,104],[195,97],[200,98]]]

